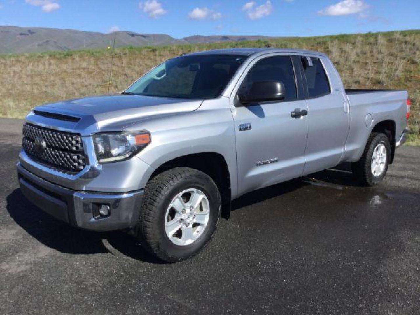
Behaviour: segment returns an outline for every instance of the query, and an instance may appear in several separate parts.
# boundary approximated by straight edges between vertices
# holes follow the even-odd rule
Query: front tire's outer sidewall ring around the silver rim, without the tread
[[[204,175],[204,174],[203,174]],[[199,239],[189,245],[174,244],[166,235],[165,215],[166,210],[173,198],[185,189],[195,188],[201,190],[209,201],[210,218]],[[169,257],[189,257],[199,252],[210,241],[213,236],[220,217],[220,197],[217,187],[207,176],[198,173],[196,176],[178,181],[171,186],[165,197],[158,204],[157,220],[155,221],[155,231],[158,234],[160,248],[164,249]]]

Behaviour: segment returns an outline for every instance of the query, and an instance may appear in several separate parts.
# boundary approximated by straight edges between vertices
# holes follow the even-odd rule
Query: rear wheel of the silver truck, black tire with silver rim
[[[391,146],[385,134],[370,134],[359,161],[352,163],[352,172],[362,186],[375,186],[388,171]]]

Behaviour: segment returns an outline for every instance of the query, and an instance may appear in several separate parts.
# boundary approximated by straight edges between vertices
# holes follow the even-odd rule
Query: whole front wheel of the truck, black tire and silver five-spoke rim
[[[139,216],[139,239],[166,262],[196,255],[212,238],[220,217],[220,194],[205,173],[179,167],[147,183]]]

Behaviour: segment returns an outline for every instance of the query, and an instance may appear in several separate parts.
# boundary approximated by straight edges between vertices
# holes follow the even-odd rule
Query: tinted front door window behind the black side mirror
[[[258,61],[242,81],[238,94],[246,95],[252,84],[260,81],[282,82],[286,90],[283,102],[297,99],[296,80],[289,56],[269,57]]]

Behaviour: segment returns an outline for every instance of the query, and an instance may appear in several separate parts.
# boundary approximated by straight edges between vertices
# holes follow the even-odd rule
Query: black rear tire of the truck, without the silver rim
[[[373,151],[378,144],[383,144],[386,148],[386,161],[385,169],[379,176],[374,176],[370,164],[372,162]],[[360,160],[352,163],[352,173],[354,178],[360,183],[361,186],[375,186],[379,184],[388,171],[389,159],[391,157],[391,146],[389,139],[385,134],[372,132],[367,140],[365,151],[360,157]]]

